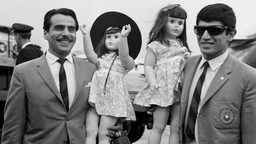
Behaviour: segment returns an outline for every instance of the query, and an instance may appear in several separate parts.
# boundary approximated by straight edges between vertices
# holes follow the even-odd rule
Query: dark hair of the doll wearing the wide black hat
[[[119,29],[115,29],[117,26],[113,26],[110,30],[105,30],[104,35],[102,36],[99,45],[96,47],[95,49],[95,53],[98,55],[98,58],[108,54],[109,50],[105,45],[105,40],[106,40],[106,34],[114,34],[114,33],[120,33],[121,32],[121,28]],[[118,54],[118,50],[116,50]]]

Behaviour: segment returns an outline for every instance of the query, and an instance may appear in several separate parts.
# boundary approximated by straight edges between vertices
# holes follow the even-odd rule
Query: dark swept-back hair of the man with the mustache
[[[76,19],[76,14],[73,10],[67,9],[67,8],[60,8],[60,9],[52,9],[49,12],[47,12],[44,16],[44,27],[43,29],[49,32],[50,26],[51,26],[51,17],[55,14],[63,14],[63,15],[69,15],[71,16],[76,23],[76,31],[78,30],[78,22]]]

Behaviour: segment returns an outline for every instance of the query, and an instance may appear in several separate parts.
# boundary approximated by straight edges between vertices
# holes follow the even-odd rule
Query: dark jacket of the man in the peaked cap
[[[19,54],[16,60],[16,66],[23,62],[34,60],[35,58],[39,58],[42,55],[43,55],[43,52],[39,49],[39,47],[29,44],[19,51]]]

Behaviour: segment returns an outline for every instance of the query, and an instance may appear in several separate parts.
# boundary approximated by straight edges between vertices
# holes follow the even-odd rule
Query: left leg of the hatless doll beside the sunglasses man
[[[167,125],[167,120],[169,117],[170,108],[157,106],[156,110],[153,112],[153,129],[148,138],[148,144],[159,144],[161,142],[162,134]]]

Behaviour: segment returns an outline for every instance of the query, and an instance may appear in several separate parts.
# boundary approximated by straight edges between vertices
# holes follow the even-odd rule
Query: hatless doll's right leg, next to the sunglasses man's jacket
[[[170,106],[170,136],[169,136],[169,144],[179,143],[180,142],[180,133],[179,133],[179,114],[180,114],[180,102],[175,102]]]

